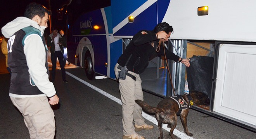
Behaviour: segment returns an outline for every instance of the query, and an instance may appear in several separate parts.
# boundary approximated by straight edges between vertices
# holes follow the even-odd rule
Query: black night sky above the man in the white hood
[[[72,10],[73,15],[78,16],[85,12],[110,6],[110,1],[111,0],[72,0],[67,9],[74,9]],[[16,17],[24,16],[26,5],[31,2],[40,3],[47,9],[52,10],[53,26],[64,26],[64,21],[57,20],[57,9],[62,7],[65,3],[68,3],[69,0],[4,0],[4,2],[0,4],[0,13],[2,14],[0,18],[0,28],[2,29],[5,24],[16,19]],[[2,32],[0,32],[0,36],[2,36]]]

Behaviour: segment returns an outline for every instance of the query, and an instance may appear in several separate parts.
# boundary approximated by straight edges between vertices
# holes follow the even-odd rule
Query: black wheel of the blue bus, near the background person
[[[95,78],[93,66],[92,66],[92,56],[90,52],[85,53],[85,74],[89,80],[93,80]]]

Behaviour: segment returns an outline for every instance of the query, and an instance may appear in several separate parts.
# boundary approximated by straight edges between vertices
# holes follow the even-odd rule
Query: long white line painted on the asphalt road
[[[92,89],[94,89],[95,91],[101,93],[102,95],[104,95],[104,96],[110,98],[111,100],[117,102],[118,104],[122,105],[121,100],[119,100],[118,98],[116,98],[116,97],[110,95],[109,93],[107,93],[107,92],[101,90],[100,88],[97,88],[96,86],[91,85],[90,83],[88,83],[88,82],[86,82],[86,81],[84,81],[84,80],[78,78],[77,76],[74,76],[73,74],[71,74],[71,73],[69,73],[69,72],[67,72],[67,71],[66,71],[66,74],[69,75],[69,76],[71,76],[71,77],[73,77],[74,79],[80,81],[81,83],[85,84],[86,86],[89,86],[90,88],[92,88]],[[158,126],[158,123],[157,123],[157,120],[156,120],[155,117],[152,117],[151,115],[146,114],[145,112],[142,112],[142,116],[143,116],[145,119],[149,120],[150,122],[152,122],[152,123],[154,123],[155,125]],[[170,132],[170,128],[167,127],[167,124],[163,124],[163,129],[166,130],[166,131],[168,131],[168,132]],[[194,139],[193,137],[187,136],[187,134],[185,134],[185,133],[183,133],[183,132],[180,132],[180,131],[178,131],[177,129],[174,129],[173,134],[175,134],[175,136],[177,136],[177,137],[180,137],[181,139]]]

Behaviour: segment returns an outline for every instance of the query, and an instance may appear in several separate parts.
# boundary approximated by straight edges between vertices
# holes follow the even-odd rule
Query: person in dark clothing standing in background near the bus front
[[[51,52],[52,82],[54,83],[54,80],[55,80],[55,70],[56,70],[56,63],[58,58],[61,66],[62,81],[63,83],[67,83],[65,63],[64,63],[64,57],[63,57],[63,53],[64,53],[63,47],[67,47],[67,43],[64,37],[58,33],[58,30],[55,27],[52,27],[52,34],[50,34],[47,37],[47,46],[50,47],[50,52]]]

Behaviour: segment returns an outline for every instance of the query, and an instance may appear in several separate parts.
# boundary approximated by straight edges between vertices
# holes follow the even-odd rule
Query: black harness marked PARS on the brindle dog
[[[187,95],[187,97],[189,98],[190,105],[193,106],[194,103],[193,103],[192,97],[190,95]],[[187,109],[190,107],[190,105],[180,95],[171,96],[170,98],[175,100],[179,105],[179,111],[176,113],[177,115],[180,115],[180,113],[182,112],[183,109]]]

